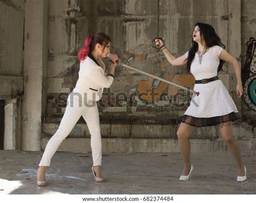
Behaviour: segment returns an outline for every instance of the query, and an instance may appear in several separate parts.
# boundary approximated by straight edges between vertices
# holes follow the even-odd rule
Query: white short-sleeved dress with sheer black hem
[[[212,46],[204,53],[201,64],[196,53],[191,63],[191,73],[196,80],[212,78],[218,75],[219,55],[223,50],[220,46]],[[188,57],[188,52],[185,56]],[[203,127],[217,125],[239,118],[237,107],[220,79],[206,84],[195,84],[190,106],[182,116],[183,123]]]

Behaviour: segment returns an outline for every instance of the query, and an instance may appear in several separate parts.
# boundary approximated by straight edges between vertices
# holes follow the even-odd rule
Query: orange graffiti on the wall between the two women
[[[150,53],[147,53],[148,50],[144,50],[144,51],[146,52],[140,53],[140,54],[136,53],[136,51],[127,52],[125,63],[130,64],[134,60],[137,60],[137,62],[138,60],[142,60],[144,62],[145,60],[147,60],[148,62],[150,61],[152,66],[155,66],[157,69],[159,69],[157,73],[154,74],[155,76],[164,78],[166,80],[169,80],[181,86],[185,86],[190,89],[193,89],[194,77],[191,74],[190,75],[177,74],[172,67],[170,68],[170,63],[165,59],[164,56],[161,56],[161,58],[164,58],[164,60],[161,60],[161,59],[158,60],[155,54],[153,54],[154,57],[148,57]],[[158,62],[156,62],[156,60],[158,60]],[[143,67],[136,67],[136,68],[140,70],[143,69]],[[146,65],[144,65],[144,68],[147,69]],[[143,71],[149,72],[147,70],[143,70]],[[134,79],[136,80],[136,77]],[[179,87],[169,85],[167,83],[161,82],[157,79],[150,78],[150,77],[147,77],[147,79],[136,80],[136,83],[137,83],[136,85],[131,86],[130,91],[138,92],[138,98],[137,98],[138,103],[142,102],[146,105],[151,105],[155,103],[159,104],[159,101],[164,101],[164,100],[166,101],[166,98],[167,100],[169,100],[169,106],[166,105],[166,103],[161,103],[161,104],[168,107],[171,107],[172,105],[174,105],[174,107],[185,107],[185,106],[187,107],[187,105],[184,105],[184,104],[189,103],[189,100],[190,100],[189,93],[187,94],[187,92],[185,92],[184,90],[181,90]],[[183,101],[178,101],[178,98]],[[171,101],[171,104],[170,104],[170,101]],[[178,103],[183,105],[180,106]]]

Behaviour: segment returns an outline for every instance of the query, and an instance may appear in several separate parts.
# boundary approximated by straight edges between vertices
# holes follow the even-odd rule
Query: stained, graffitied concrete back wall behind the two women
[[[228,27],[226,20],[228,1],[160,1],[159,15],[157,6],[158,1],[134,0],[49,2],[48,116],[63,114],[64,107],[58,107],[63,103],[58,94],[70,92],[75,86],[79,71],[77,50],[86,35],[97,31],[111,36],[112,52],[118,53],[126,64],[193,88],[193,76],[187,75],[183,68],[171,67],[163,53],[151,47],[151,40],[159,30],[171,52],[183,55],[190,48],[194,23],[202,21],[212,24],[227,45],[227,30],[234,29]],[[224,69],[220,78],[232,91],[230,70]],[[117,93],[122,94],[120,92],[127,100],[119,106],[110,105],[110,101],[115,103],[118,99]],[[160,97],[163,92],[169,95],[171,102]],[[179,100],[178,93],[184,94],[184,98]],[[146,95],[142,97],[142,94]],[[111,89],[100,101],[100,112],[102,116],[178,117],[186,110],[190,99],[190,95],[178,87],[120,67]],[[177,104],[182,102],[183,106]],[[143,106],[138,107],[138,104]]]

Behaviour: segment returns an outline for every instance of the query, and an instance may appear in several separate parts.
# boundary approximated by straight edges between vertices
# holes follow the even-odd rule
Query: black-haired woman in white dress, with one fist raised
[[[219,131],[238,165],[237,181],[246,180],[246,168],[242,163],[237,140],[233,137],[232,121],[239,118],[237,107],[224,84],[218,78],[224,61],[230,63],[237,78],[237,97],[242,96],[241,70],[237,60],[226,50],[211,25],[197,23],[192,33],[192,48],[181,57],[174,57],[161,39],[156,46],[163,50],[165,57],[174,65],[186,64],[196,82],[194,91],[200,92],[181,117],[177,136],[184,169],[179,180],[189,180],[193,171],[190,163],[190,135],[196,127],[219,125]]]

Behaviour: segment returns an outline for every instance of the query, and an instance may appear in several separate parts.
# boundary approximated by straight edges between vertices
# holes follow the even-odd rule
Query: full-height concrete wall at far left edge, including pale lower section
[[[0,0],[0,99],[5,100],[4,149],[21,149],[25,1]]]

